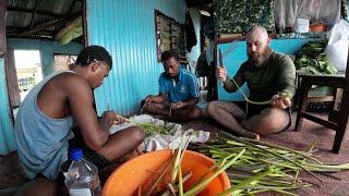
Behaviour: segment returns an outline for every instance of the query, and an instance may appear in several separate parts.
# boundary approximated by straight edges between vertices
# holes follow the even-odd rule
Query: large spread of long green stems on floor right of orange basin
[[[239,155],[226,170],[231,188],[220,195],[255,195],[262,192],[297,195],[296,189],[320,186],[317,183],[301,180],[301,171],[323,182],[322,175],[340,180],[332,173],[349,170],[349,163],[322,163],[313,154],[316,151],[313,149],[314,145],[312,144],[308,151],[299,151],[219,132],[216,139],[206,144],[193,144],[190,148],[212,157],[216,162]]]

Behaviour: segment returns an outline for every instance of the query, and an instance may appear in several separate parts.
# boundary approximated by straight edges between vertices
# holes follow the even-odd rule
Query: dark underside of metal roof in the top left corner
[[[7,36],[49,38],[82,15],[83,0],[8,0]]]

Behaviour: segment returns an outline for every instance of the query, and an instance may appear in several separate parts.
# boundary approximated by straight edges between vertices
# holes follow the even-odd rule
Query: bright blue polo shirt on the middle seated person
[[[159,93],[168,95],[168,102],[185,101],[190,98],[200,97],[197,78],[186,70],[180,70],[178,81],[163,73],[158,82]]]

